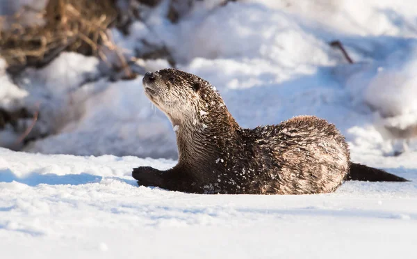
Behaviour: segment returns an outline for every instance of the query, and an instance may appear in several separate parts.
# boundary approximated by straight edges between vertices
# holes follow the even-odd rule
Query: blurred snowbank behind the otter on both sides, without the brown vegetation
[[[170,49],[179,68],[218,88],[243,127],[313,114],[335,123],[355,152],[379,155],[394,154],[395,141],[402,146],[413,137],[417,40],[405,37],[416,36],[415,6],[388,0],[218,2],[197,1],[177,24],[164,18],[162,3],[149,9],[144,22],[134,22],[129,36],[113,35],[126,54],[146,51],[149,44]],[[347,65],[330,40],[341,40],[356,64]],[[33,107],[40,101],[44,118],[52,118],[42,118],[31,132],[48,136],[25,150],[177,157],[172,125],[142,94],[140,77],[110,82],[97,62],[62,54],[15,80],[28,94],[16,102]],[[408,135],[397,136],[386,125]],[[417,146],[411,141],[407,149]]]

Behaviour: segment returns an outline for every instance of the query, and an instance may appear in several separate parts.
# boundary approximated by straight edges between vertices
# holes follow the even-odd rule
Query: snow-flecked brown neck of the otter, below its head
[[[227,110],[226,110],[227,111]],[[203,166],[215,164],[231,145],[238,143],[238,123],[229,112],[211,113],[175,124],[179,164]]]

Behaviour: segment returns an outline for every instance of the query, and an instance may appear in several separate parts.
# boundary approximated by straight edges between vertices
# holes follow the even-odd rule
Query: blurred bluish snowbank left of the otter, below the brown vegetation
[[[111,82],[103,77],[99,66],[97,58],[64,52],[45,68],[26,69],[16,79],[19,88],[6,74],[0,77],[8,83],[3,88],[5,105],[18,102],[21,107],[39,109],[40,118],[30,136],[49,135],[30,143],[25,150],[176,157],[172,126],[150,106],[142,93],[141,79]],[[149,66],[154,68],[158,63]],[[13,148],[23,133],[10,128],[3,134]],[[13,141],[9,135],[14,136]],[[161,143],[154,146],[158,141]]]

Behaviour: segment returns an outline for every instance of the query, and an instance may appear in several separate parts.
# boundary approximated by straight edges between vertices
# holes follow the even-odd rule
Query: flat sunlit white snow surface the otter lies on
[[[2,258],[415,258],[417,162],[368,157],[413,182],[334,194],[196,195],[137,187],[164,159],[0,148]],[[404,164],[404,167],[398,167]],[[391,168],[394,167],[394,168]]]

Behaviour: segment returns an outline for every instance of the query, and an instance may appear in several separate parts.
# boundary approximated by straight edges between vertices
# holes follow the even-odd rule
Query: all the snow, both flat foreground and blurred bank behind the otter
[[[10,8],[28,1],[18,2]],[[310,196],[137,187],[133,167],[176,164],[179,129],[147,99],[142,77],[111,81],[97,58],[67,52],[11,77],[0,59],[0,107],[40,111],[24,152],[0,148],[5,258],[415,257],[417,6],[219,2],[197,1],[170,24],[163,1],[129,36],[114,29],[113,38],[128,56],[149,44],[170,49],[178,68],[213,84],[243,127],[326,118],[346,136],[352,161],[411,182],[346,182],[334,194]],[[329,47],[332,40],[354,64]],[[164,59],[138,65],[169,66]],[[0,129],[0,146],[13,148],[22,132],[9,126]]]

